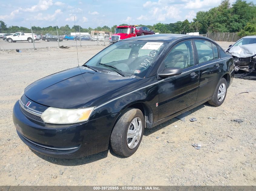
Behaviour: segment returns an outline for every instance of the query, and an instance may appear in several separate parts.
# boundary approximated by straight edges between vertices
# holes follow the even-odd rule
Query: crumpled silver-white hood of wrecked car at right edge
[[[256,44],[233,46],[228,52],[239,58],[251,57],[256,54]]]

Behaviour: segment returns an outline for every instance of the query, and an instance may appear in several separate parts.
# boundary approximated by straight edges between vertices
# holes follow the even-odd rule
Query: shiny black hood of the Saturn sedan
[[[25,88],[25,95],[42,105],[79,108],[88,101],[136,80],[79,67],[49,75]]]

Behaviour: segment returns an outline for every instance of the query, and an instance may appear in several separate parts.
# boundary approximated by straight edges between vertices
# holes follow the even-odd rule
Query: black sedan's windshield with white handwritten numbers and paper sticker
[[[168,42],[127,40],[119,41],[92,57],[85,65],[98,71],[115,71],[115,66],[125,77],[145,77],[148,70],[158,59]]]

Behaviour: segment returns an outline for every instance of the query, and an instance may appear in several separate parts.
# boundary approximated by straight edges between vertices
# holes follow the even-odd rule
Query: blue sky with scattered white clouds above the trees
[[[230,0],[231,4],[235,0]],[[256,4],[256,0],[252,0]],[[0,0],[0,20],[7,26],[83,28],[118,24],[153,25],[158,22],[192,21],[198,11],[216,7],[221,0]]]

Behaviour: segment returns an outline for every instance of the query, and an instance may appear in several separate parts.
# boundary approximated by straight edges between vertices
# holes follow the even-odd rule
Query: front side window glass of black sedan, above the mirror
[[[185,41],[176,45],[168,53],[165,60],[165,68],[178,67],[187,68],[194,65],[194,54],[191,41]]]

